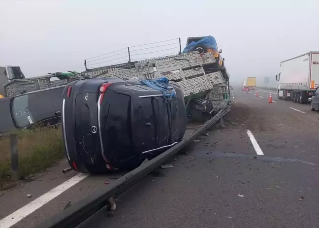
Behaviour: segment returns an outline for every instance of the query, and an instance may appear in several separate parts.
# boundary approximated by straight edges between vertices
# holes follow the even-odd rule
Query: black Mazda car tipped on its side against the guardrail
[[[162,79],[68,84],[61,117],[70,167],[89,173],[131,169],[180,142],[187,125],[183,93]]]

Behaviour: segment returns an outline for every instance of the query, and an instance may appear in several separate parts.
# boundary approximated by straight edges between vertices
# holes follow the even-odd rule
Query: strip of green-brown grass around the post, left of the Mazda
[[[18,135],[19,178],[45,170],[64,158],[61,128],[15,130]],[[10,180],[10,139],[0,138],[0,182]]]

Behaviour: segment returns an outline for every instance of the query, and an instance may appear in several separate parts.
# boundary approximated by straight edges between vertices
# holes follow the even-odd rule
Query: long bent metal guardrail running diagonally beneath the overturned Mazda
[[[107,189],[100,190],[97,193],[93,193],[88,197],[76,202],[72,206],[60,211],[58,214],[42,222],[38,228],[73,228],[81,224],[90,216],[95,214],[100,209],[109,204],[111,197],[116,198],[121,195],[128,188],[136,184],[142,177],[146,176],[154,169],[159,167],[168,158],[175,155],[189,143],[191,143],[198,135],[209,128],[212,124],[216,123],[225,114],[231,110],[232,105],[228,105],[217,113],[212,119],[207,121],[197,130],[194,130],[191,137],[183,139],[182,142],[176,144],[172,148],[168,149],[156,158],[142,163],[139,167],[128,172],[126,175],[108,185]]]

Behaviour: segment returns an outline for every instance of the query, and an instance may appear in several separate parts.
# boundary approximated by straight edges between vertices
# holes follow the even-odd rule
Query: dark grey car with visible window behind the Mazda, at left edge
[[[0,132],[60,124],[64,86],[0,99]]]

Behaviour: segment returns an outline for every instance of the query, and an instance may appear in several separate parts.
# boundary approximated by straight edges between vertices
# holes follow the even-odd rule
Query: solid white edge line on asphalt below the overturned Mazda
[[[21,207],[20,209],[16,210],[12,214],[8,215],[7,217],[0,220],[0,228],[10,228],[14,224],[18,223],[20,220],[24,219],[28,215],[30,215],[35,210],[39,209],[44,204],[48,203],[67,189],[71,188],[76,183],[80,182],[84,178],[88,177],[89,174],[87,173],[79,173],[76,176],[68,179],[61,185],[55,187],[54,189],[50,190],[49,192],[37,197],[27,205]]]

